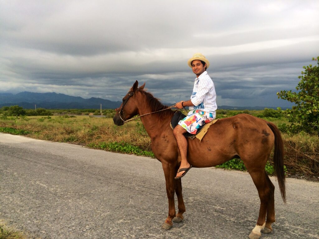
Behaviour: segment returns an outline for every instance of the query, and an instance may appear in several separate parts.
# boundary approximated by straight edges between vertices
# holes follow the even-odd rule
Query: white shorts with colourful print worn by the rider
[[[187,116],[180,120],[178,124],[182,126],[187,132],[196,134],[197,129],[202,125],[211,122],[216,118],[216,111],[204,112],[201,110],[189,111]]]

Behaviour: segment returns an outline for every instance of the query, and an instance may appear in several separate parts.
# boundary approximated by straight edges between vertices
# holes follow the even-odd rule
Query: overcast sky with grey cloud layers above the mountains
[[[194,53],[217,105],[290,106],[319,55],[318,1],[0,0],[0,92],[121,100],[135,80],[163,102],[190,98]]]

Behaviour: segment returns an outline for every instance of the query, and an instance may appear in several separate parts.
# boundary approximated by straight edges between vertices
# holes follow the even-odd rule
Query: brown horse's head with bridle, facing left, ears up
[[[133,116],[138,114],[137,106],[137,93],[144,89],[145,83],[138,88],[138,82],[136,81],[129,92],[123,97],[123,103],[120,108],[115,109],[116,114],[113,118],[114,124],[121,126],[125,120],[129,120]]]

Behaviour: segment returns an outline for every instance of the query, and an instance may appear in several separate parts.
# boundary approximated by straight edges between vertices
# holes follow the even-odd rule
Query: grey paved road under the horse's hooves
[[[319,238],[319,183],[276,186],[276,219],[261,238]],[[247,238],[259,198],[249,174],[192,169],[182,179],[187,212],[168,212],[164,173],[151,158],[0,134],[0,219],[41,238]],[[177,203],[177,202],[176,202]]]

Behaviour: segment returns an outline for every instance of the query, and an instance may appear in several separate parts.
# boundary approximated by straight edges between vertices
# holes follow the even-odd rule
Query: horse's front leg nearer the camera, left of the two
[[[175,166],[172,163],[162,162],[165,181],[166,181],[166,192],[168,198],[168,217],[163,223],[163,229],[169,229],[173,226],[172,219],[175,217],[175,203],[174,203],[174,191],[175,191],[175,182],[174,177],[175,173]]]

